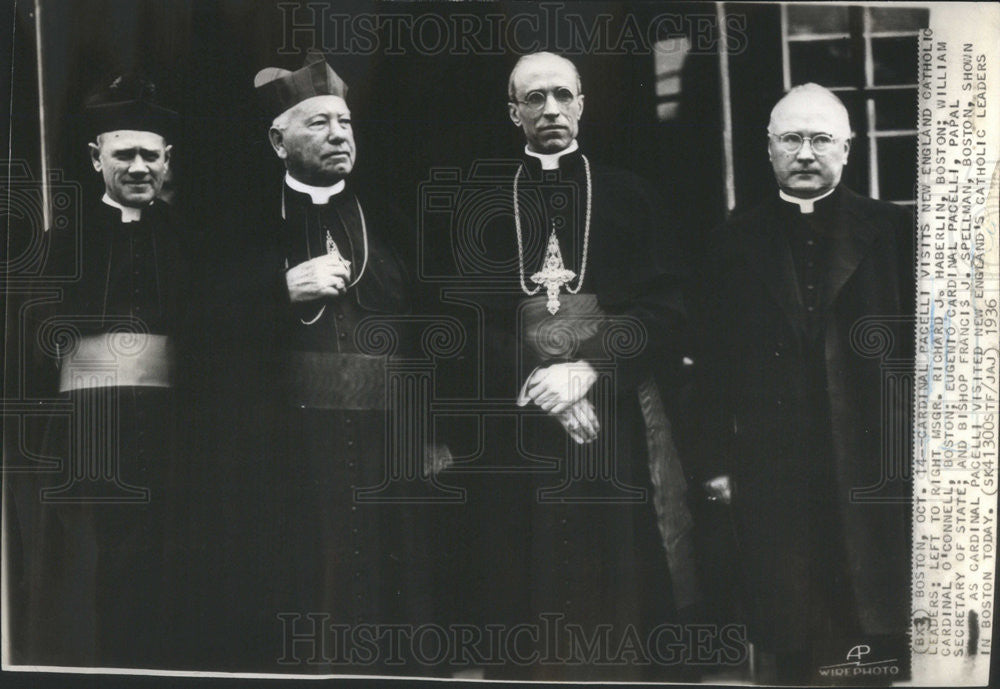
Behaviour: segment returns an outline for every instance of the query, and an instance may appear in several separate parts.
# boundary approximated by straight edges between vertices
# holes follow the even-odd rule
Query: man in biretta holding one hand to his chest
[[[381,322],[396,332],[393,319],[410,309],[408,271],[392,244],[402,223],[384,195],[354,182],[348,87],[321,54],[297,70],[262,69],[254,87],[283,168],[262,192],[273,199],[267,215],[245,233],[261,241],[237,256],[229,279],[232,309],[260,345],[250,368],[263,372],[274,413],[266,428],[252,429],[266,440],[236,450],[238,466],[259,466],[273,452],[260,475],[264,536],[251,544],[269,563],[259,662],[283,672],[373,671],[384,658],[362,667],[326,649],[307,663],[284,643],[312,624],[306,615],[353,628],[399,619],[428,593],[413,508],[358,497],[389,471],[393,351],[376,344],[387,330],[366,328]]]

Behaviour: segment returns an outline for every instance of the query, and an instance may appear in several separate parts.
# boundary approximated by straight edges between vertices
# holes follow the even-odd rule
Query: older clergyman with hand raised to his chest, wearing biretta
[[[393,318],[410,309],[393,248],[400,223],[348,177],[347,87],[322,56],[296,71],[264,69],[255,86],[285,175],[256,229],[234,237],[213,307],[240,333],[224,365],[253,379],[243,411],[228,416],[240,432],[220,443],[220,466],[241,481],[224,489],[227,502],[243,516],[212,520],[245,564],[222,563],[214,617],[225,625],[214,636],[247,644],[207,662],[402,672],[386,637],[357,636],[366,625],[426,621],[430,596],[419,506],[394,501],[392,485],[375,490],[391,469],[391,361],[407,351],[404,319]]]

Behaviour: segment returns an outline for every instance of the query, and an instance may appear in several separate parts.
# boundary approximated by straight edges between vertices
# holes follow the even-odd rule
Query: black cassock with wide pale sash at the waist
[[[181,595],[175,388],[187,269],[161,201],[137,222],[103,203],[82,218],[79,233],[49,231],[39,284],[63,293],[29,315],[29,370],[47,399],[29,447],[59,468],[11,482],[23,603],[12,606],[12,660],[163,667],[175,652],[166,600]]]

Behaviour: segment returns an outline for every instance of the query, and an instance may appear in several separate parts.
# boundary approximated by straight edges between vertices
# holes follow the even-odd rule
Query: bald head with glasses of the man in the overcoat
[[[851,122],[847,108],[829,89],[818,84],[793,88],[771,110],[767,133],[768,158],[785,193],[814,198],[840,184],[851,150]],[[798,138],[786,136],[790,134]],[[832,144],[821,143],[824,135]]]

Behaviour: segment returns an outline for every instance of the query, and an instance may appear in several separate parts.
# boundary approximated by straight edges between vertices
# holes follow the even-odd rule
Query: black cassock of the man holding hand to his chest
[[[226,541],[206,546],[223,574],[203,572],[221,596],[209,602],[219,612],[205,616],[216,648],[204,664],[384,671],[392,651],[352,655],[357,637],[343,634],[426,621],[430,595],[419,507],[393,501],[392,485],[375,490],[390,472],[390,362],[408,351],[398,318],[410,308],[408,271],[392,246],[399,222],[350,184],[325,204],[285,185],[281,209],[270,210],[259,241],[237,244],[214,300],[241,341],[219,350],[233,378],[224,397],[235,403],[219,412],[219,451],[206,469],[233,482],[222,493],[231,515],[200,520],[206,533],[221,533],[203,539]],[[350,261],[347,292],[292,304],[286,271],[326,254],[328,242]],[[331,633],[329,625],[346,627]],[[291,635],[307,641],[289,644]],[[227,638],[228,648],[217,642]]]

